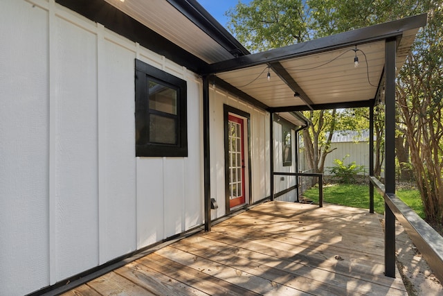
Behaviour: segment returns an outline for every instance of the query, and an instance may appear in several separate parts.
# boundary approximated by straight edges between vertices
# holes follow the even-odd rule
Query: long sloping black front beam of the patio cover
[[[271,49],[261,53],[253,53],[251,55],[243,55],[231,60],[216,62],[210,64],[206,69],[201,69],[200,72],[206,74],[223,73],[226,71],[253,67],[258,64],[288,60],[305,55],[343,49],[348,46],[377,42],[391,37],[401,37],[404,31],[426,26],[426,21],[426,13],[415,15],[413,17],[406,17],[396,21],[390,21],[307,42],[284,46],[279,49]]]

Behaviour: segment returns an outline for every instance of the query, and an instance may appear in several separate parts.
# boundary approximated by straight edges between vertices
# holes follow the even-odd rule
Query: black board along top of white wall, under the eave
[[[204,60],[185,51],[174,42],[170,42],[165,37],[147,28],[129,15],[111,6],[103,0],[55,0],[66,8],[69,8],[80,15],[102,24],[109,30],[118,33],[132,42],[138,42],[141,46],[164,55],[165,58],[180,64],[181,66],[198,73],[198,69],[208,66]]]

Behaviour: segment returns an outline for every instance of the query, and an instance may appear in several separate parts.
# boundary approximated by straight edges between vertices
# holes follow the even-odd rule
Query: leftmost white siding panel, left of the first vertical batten
[[[0,40],[0,295],[23,295],[49,279],[48,12],[1,1]]]

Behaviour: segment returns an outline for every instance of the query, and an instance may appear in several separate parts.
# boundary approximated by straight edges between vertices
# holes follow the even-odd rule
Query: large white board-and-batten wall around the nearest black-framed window
[[[0,295],[201,225],[201,80],[59,6],[0,10]],[[135,157],[134,59],[188,84],[188,157]]]

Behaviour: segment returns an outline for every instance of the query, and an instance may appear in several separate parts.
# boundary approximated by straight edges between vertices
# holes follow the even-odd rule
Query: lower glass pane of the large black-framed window
[[[150,142],[177,144],[175,119],[150,114]]]

